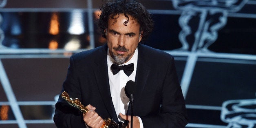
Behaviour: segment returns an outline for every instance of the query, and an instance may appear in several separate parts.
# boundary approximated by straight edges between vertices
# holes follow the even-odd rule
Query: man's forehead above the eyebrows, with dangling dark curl
[[[112,16],[110,15],[108,20],[108,29],[109,28],[139,29],[139,23],[132,16],[121,13]]]

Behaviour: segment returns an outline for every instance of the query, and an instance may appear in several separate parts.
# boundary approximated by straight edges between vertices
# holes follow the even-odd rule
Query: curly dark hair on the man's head
[[[108,20],[110,18],[114,19],[115,15],[119,15],[120,13],[124,13],[125,17],[128,18],[128,20],[124,22],[124,25],[129,22],[128,15],[137,20],[140,25],[140,32],[142,31],[142,39],[147,38],[154,27],[150,13],[136,0],[106,0],[103,2],[100,11],[101,14],[96,22],[104,38],[106,38],[104,30],[108,28]]]

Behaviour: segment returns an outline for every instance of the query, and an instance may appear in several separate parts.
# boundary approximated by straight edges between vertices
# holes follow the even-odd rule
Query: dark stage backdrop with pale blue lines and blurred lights
[[[256,128],[256,0],[139,0],[174,55],[190,123]],[[56,128],[70,55],[103,45],[101,0],[0,0],[0,128]]]

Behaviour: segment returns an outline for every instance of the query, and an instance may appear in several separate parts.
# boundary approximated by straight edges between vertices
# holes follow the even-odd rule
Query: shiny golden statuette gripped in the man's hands
[[[65,99],[68,104],[70,104],[71,106],[75,106],[76,108],[78,108],[82,113],[86,113],[88,112],[89,110],[81,104],[81,102],[79,101],[79,99],[75,98],[75,99],[72,99],[71,97],[69,97],[68,93],[67,92],[62,92],[61,94],[62,98]],[[113,121],[112,119],[110,118],[107,118],[107,119],[104,119],[104,122],[101,126],[101,128],[125,128],[127,125],[124,124],[124,123],[121,123],[119,122],[118,124]]]

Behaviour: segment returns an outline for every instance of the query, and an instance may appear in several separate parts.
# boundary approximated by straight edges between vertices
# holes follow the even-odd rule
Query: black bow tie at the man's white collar
[[[128,65],[121,65],[121,66],[118,66],[117,64],[112,64],[111,65],[111,70],[113,72],[113,74],[117,74],[120,70],[124,70],[124,73],[127,75],[127,76],[130,76],[134,70],[134,64],[131,63],[131,64],[128,64]]]

